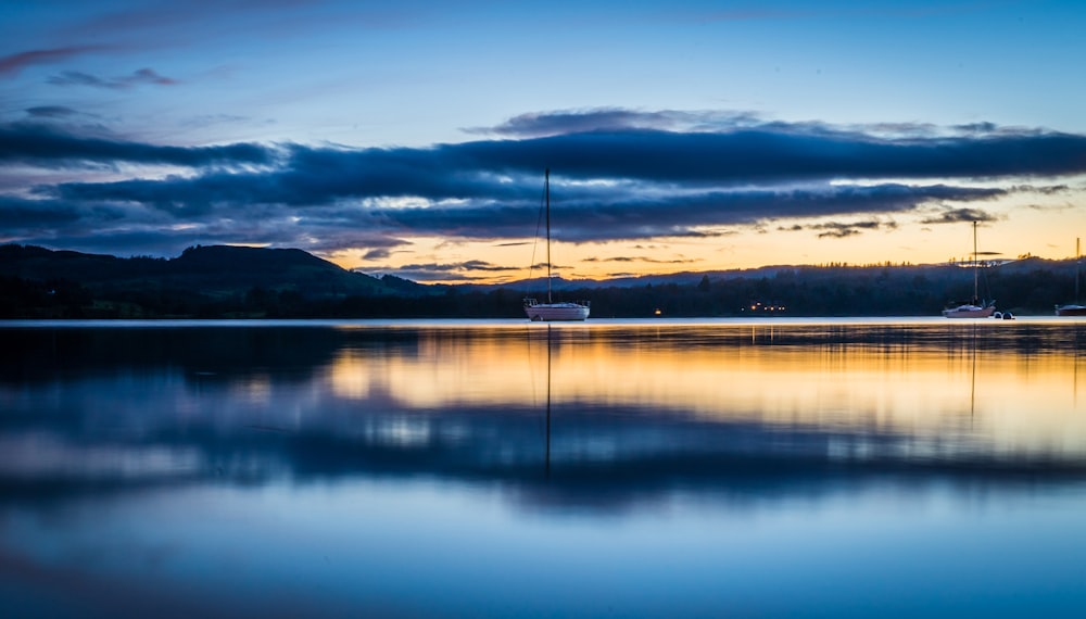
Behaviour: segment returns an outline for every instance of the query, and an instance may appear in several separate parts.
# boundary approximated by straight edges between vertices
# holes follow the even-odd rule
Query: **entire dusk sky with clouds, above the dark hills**
[[[0,0],[0,243],[424,282],[1074,255],[1086,3]]]

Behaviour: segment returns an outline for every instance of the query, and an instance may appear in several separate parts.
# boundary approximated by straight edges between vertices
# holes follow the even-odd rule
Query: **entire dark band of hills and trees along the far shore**
[[[1026,258],[981,269],[981,292],[1015,314],[1073,300],[1073,261]],[[552,281],[594,317],[924,316],[969,299],[973,271],[952,265],[766,266],[614,280]],[[175,258],[0,247],[0,317],[522,317],[543,279],[420,285],[345,270],[301,250],[193,247]]]

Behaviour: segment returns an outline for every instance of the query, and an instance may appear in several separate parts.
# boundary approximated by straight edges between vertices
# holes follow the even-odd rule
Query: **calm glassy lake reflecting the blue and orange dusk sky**
[[[1086,616],[1083,320],[0,344],[5,616]]]

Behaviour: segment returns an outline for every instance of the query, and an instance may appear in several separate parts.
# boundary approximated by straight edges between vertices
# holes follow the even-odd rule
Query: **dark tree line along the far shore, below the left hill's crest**
[[[1015,314],[1051,314],[1073,301],[1072,263],[1034,260],[982,269],[982,296]],[[988,293],[992,291],[993,293]],[[752,274],[694,274],[666,283],[593,283],[563,290],[589,300],[592,316],[924,316],[969,300],[972,269],[956,266],[781,267]],[[306,294],[298,286],[235,291],[0,277],[0,318],[522,318],[515,287],[396,286],[372,292]]]

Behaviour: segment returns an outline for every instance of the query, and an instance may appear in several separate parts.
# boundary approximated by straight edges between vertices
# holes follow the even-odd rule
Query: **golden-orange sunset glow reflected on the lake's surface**
[[[375,393],[406,409],[452,406],[614,409],[939,438],[1014,452],[1086,452],[1074,353],[1019,354],[891,344],[782,344],[610,337],[539,329],[420,334],[412,354],[343,350],[328,374],[341,397]],[[550,357],[550,358],[548,358]],[[1079,365],[1082,362],[1078,362]],[[550,371],[548,371],[550,366]]]

